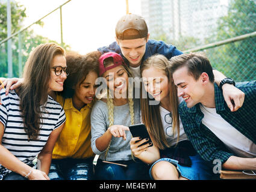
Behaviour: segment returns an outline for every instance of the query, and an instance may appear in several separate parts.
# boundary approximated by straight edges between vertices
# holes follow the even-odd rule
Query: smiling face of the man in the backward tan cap
[[[129,61],[131,67],[138,67],[141,64],[142,57],[146,51],[148,37],[133,40],[116,40],[123,56]]]

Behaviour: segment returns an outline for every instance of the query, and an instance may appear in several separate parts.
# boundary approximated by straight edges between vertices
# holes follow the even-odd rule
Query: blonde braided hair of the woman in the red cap
[[[107,58],[104,60],[104,67],[107,65],[110,65],[113,63],[113,58]],[[130,69],[126,65],[121,65],[126,73],[128,74],[128,77],[133,77],[133,74],[131,73]],[[130,116],[131,116],[131,125],[134,124],[134,102],[133,102],[133,86],[128,85],[128,104],[129,104],[129,110],[130,110]],[[113,104],[113,97],[111,97],[111,92],[107,88],[107,107],[108,107],[108,121],[109,125],[108,127],[111,127],[114,125],[114,104]],[[107,158],[108,151],[110,149],[110,143],[108,144],[107,150],[105,152],[105,159]],[[133,157],[133,154],[132,154]]]

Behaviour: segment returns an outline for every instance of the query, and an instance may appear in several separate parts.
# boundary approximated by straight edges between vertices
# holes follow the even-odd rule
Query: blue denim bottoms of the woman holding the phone
[[[192,166],[190,167],[181,166],[178,161],[170,158],[161,158],[160,160],[157,160],[155,161],[154,164],[152,164],[151,169],[156,163],[160,161],[167,161],[175,165],[179,174],[189,180],[211,180],[215,178],[213,174],[213,169],[210,163],[203,160],[199,154],[189,156],[189,157],[192,161]],[[152,178],[151,169],[149,170],[149,174]]]

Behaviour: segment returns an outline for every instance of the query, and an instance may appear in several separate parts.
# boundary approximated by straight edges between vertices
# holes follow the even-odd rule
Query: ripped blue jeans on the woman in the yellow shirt
[[[91,180],[93,158],[52,160],[48,176],[51,180]]]

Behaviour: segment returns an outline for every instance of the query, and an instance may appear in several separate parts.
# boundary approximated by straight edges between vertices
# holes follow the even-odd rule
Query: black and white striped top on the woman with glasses
[[[39,132],[39,140],[30,140],[28,142],[28,135],[24,131],[23,119],[20,116],[19,96],[14,90],[10,90],[9,94],[5,95],[4,89],[1,90],[0,95],[2,100],[2,105],[0,105],[0,122],[4,124],[2,146],[23,163],[31,164],[37,154],[42,151],[52,131],[66,121],[64,110],[60,104],[48,96],[46,104],[41,107],[42,127]],[[7,170],[0,164],[0,180],[8,172],[10,170]]]

